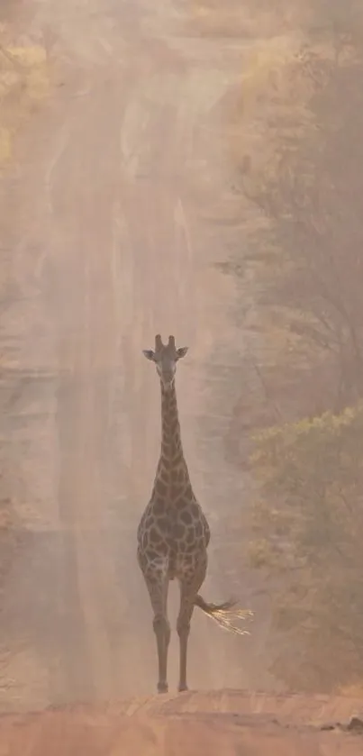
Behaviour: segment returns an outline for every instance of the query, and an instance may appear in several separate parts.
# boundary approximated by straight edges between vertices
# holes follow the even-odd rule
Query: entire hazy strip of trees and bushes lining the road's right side
[[[284,638],[273,670],[348,690],[363,679],[363,7],[192,5],[198,33],[256,40],[225,130],[244,238],[221,267],[256,303],[233,437],[250,439],[241,468],[253,451],[250,559]]]

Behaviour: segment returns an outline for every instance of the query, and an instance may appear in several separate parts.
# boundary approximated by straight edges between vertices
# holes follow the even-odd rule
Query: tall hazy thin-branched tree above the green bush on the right
[[[263,158],[241,154],[236,170],[241,200],[261,220],[230,269],[250,270],[254,327],[269,352],[259,367],[286,420],[362,396],[363,31],[355,20],[349,34],[345,18],[340,28],[339,14],[333,22],[316,21],[286,59],[255,123]]]

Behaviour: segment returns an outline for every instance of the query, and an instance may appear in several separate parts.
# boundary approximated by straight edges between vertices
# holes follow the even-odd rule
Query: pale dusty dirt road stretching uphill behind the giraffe
[[[159,444],[157,380],[141,357],[155,332],[190,347],[178,377],[184,440],[214,549],[221,508],[242,500],[221,442],[226,360],[242,337],[205,220],[224,180],[213,105],[240,50],[190,38],[185,20],[168,0],[30,0],[19,16],[34,39],[46,32],[55,84],[1,185],[14,293],[2,320],[2,455],[30,531],[5,587],[3,708],[154,687],[134,532]],[[225,416],[213,419],[215,390]],[[206,591],[220,596],[231,580],[214,553]],[[210,625],[195,617],[192,684],[249,684],[231,663],[234,639]]]

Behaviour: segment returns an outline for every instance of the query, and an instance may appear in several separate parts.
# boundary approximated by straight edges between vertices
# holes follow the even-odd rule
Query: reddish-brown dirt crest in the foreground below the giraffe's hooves
[[[358,705],[339,697],[188,693],[3,716],[0,738],[6,756],[358,756],[362,733],[324,729],[348,724]]]

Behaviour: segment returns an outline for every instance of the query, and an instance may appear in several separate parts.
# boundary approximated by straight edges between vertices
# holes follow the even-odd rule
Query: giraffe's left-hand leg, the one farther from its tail
[[[168,623],[168,576],[157,575],[146,578],[151,606],[154,613],[153,629],[157,641],[159,680],[158,692],[168,693],[168,645],[170,625]]]

